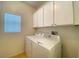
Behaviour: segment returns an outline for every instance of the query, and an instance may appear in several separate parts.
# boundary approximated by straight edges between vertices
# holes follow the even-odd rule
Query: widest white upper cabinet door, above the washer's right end
[[[54,2],[55,25],[73,24],[73,6],[71,1]]]

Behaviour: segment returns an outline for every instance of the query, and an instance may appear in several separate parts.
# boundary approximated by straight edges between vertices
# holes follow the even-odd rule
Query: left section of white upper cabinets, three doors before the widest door
[[[33,15],[33,27],[46,27],[53,24],[53,2],[47,2]]]

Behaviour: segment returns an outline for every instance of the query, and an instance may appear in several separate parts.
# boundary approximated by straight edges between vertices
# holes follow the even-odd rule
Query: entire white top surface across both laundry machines
[[[33,42],[46,48],[47,50],[51,50],[56,44],[60,42],[59,36],[52,36],[51,38],[39,37],[39,36],[27,36],[26,38],[32,40]]]

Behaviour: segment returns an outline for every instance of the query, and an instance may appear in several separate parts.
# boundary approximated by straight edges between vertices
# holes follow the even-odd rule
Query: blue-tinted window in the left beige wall
[[[4,32],[21,32],[21,16],[5,13]]]

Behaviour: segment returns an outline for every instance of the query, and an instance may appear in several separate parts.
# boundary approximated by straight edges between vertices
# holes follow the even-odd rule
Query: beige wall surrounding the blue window
[[[5,12],[22,17],[20,33],[3,32],[3,14]],[[31,6],[22,2],[5,2],[0,10],[0,57],[10,57],[24,51],[25,35],[33,34],[32,14],[35,11]]]

